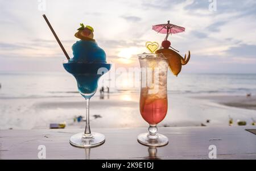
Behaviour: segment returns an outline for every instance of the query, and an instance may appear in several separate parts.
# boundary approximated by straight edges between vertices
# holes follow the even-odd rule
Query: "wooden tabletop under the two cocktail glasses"
[[[217,159],[256,159],[256,135],[245,131],[255,128],[159,128],[169,139],[159,148],[138,143],[137,135],[147,128],[92,128],[106,142],[90,149],[69,144],[69,137],[83,130],[0,130],[0,159],[38,159],[39,145],[46,147],[46,159],[209,159],[209,145],[216,145]]]

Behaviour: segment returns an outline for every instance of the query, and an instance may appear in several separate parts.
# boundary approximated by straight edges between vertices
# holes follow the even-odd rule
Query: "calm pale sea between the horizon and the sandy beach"
[[[127,81],[123,78],[125,81],[120,85],[115,78],[103,77],[105,76],[99,80],[98,87],[109,87],[111,93],[122,93],[126,90],[139,93],[139,86],[134,84],[133,80]],[[0,84],[1,99],[77,97],[79,95],[75,78],[66,72],[2,72]],[[256,94],[256,74],[183,73],[175,77],[168,73],[167,90],[172,94]]]

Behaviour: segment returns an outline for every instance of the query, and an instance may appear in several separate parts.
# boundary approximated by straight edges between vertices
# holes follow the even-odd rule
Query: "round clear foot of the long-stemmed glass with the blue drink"
[[[75,147],[96,147],[105,142],[103,134],[92,132],[90,136],[84,136],[84,132],[75,134],[69,139],[69,143]]]

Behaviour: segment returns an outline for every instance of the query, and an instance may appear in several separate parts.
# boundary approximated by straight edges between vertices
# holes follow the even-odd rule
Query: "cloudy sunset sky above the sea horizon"
[[[186,29],[168,38],[181,56],[191,51],[184,73],[256,73],[253,0],[0,0],[0,72],[64,72],[65,56],[42,14],[71,57],[84,23],[109,61],[138,66],[146,41],[164,39],[152,25],[170,20]]]

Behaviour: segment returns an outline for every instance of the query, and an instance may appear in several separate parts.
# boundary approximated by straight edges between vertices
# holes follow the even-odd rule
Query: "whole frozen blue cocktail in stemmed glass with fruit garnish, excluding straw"
[[[104,143],[105,136],[90,132],[89,100],[96,93],[98,80],[109,71],[111,64],[93,39],[93,28],[81,24],[78,30],[75,36],[81,40],[73,44],[73,58],[65,60],[63,66],[76,78],[79,93],[86,99],[86,126],[84,132],[73,135],[69,142],[75,147],[94,147]]]

